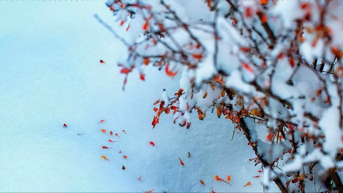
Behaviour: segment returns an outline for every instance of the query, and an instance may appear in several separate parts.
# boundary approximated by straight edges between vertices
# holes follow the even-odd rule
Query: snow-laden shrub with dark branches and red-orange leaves
[[[128,47],[118,66],[126,77],[155,66],[180,89],[164,91],[159,117],[190,128],[190,113],[215,112],[244,132],[268,188],[304,192],[320,178],[343,192],[343,4],[338,1],[109,0]],[[123,89],[127,79],[125,78]],[[158,96],[156,97],[158,98]],[[317,173],[314,167],[317,166]],[[319,168],[319,169],[318,169]]]

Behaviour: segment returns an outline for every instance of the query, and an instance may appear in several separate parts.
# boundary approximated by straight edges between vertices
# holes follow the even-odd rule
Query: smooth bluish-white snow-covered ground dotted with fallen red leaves
[[[104,1],[1,1],[0,192],[263,192],[256,156],[242,133],[231,141],[230,121],[192,113],[186,129],[162,114],[151,129],[153,103],[178,81],[147,68],[145,82],[134,71],[122,91],[125,48],[94,13],[113,21]]]

